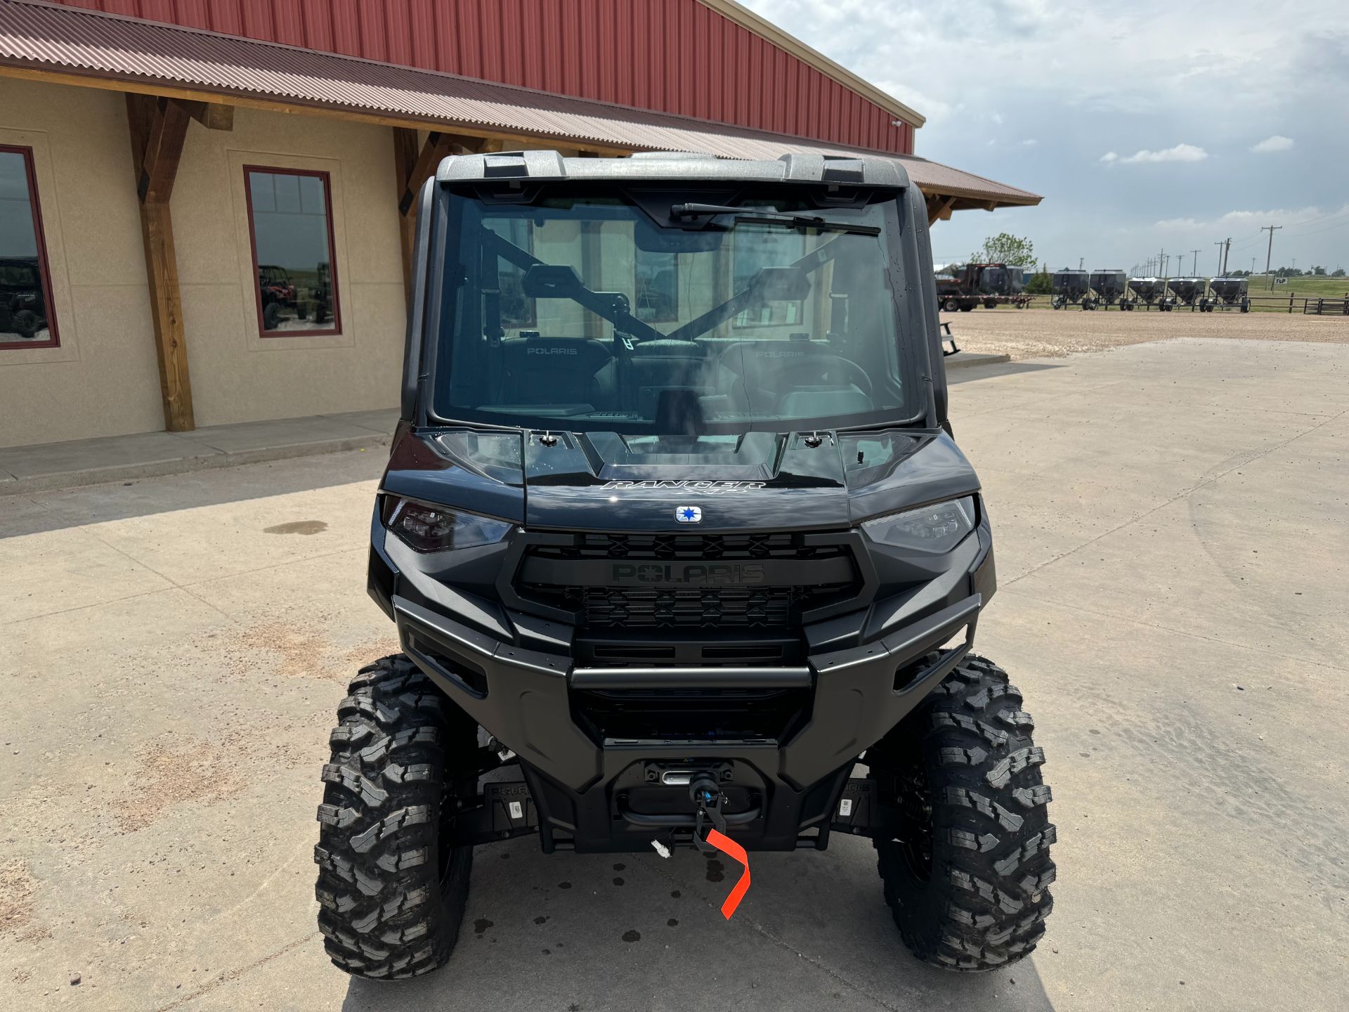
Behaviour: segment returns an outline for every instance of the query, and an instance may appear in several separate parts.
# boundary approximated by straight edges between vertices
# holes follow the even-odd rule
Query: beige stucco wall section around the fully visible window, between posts
[[[390,131],[235,109],[235,128],[188,132],[173,194],[197,425],[398,403],[403,275]],[[262,337],[246,165],[312,169],[332,185],[341,331]]]

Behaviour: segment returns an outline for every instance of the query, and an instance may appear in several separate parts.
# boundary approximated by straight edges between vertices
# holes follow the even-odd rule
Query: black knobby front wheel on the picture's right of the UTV
[[[901,837],[876,841],[885,901],[919,959],[992,970],[1028,955],[1054,907],[1044,750],[1006,672],[969,656],[865,762]]]

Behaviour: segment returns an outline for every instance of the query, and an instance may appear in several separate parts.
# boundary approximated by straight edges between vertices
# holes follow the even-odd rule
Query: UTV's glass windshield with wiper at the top
[[[441,420],[664,436],[917,413],[892,290],[893,200],[546,193],[449,197]]]

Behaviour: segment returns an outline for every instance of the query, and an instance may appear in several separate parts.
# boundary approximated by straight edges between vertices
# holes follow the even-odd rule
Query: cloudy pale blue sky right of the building
[[[927,116],[924,158],[1037,208],[962,210],[938,263],[1006,231],[1051,270],[1349,270],[1349,16],[1241,0],[742,0]],[[1299,13],[1300,11],[1300,13]],[[1349,13],[1349,11],[1345,11]]]

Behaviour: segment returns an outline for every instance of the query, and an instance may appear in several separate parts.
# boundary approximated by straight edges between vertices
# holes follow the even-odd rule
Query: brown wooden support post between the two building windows
[[[182,297],[178,291],[178,255],[169,212],[188,119],[188,112],[167,99],[127,96],[127,127],[140,200],[140,239],[146,251],[150,318],[155,329],[159,394],[169,432],[190,432],[197,428],[192,410]]]

